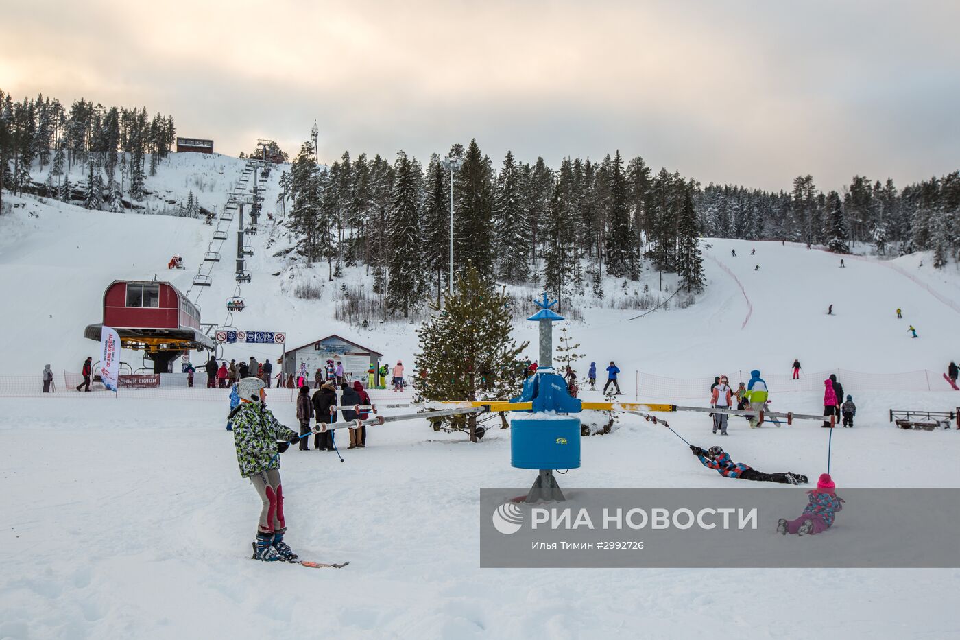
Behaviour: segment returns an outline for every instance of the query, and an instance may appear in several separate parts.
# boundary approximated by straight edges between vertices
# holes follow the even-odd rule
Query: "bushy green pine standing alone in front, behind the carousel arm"
[[[522,379],[514,376],[514,363],[528,343],[517,346],[511,334],[509,303],[510,296],[498,293],[468,263],[443,310],[436,310],[418,330],[416,366],[426,372],[417,382],[420,397],[473,402],[516,395]],[[477,441],[476,414],[466,421],[454,417],[444,422]]]

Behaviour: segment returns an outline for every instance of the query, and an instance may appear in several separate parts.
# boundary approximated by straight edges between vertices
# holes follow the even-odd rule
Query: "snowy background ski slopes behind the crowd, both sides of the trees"
[[[151,207],[166,200],[185,201],[185,193],[194,190],[204,208],[222,210],[243,165],[243,160],[223,156],[174,155],[148,183],[165,194]],[[261,185],[266,187],[267,211],[276,209],[277,178],[274,171]],[[46,362],[55,370],[76,371],[95,351],[83,329],[99,321],[108,283],[155,275],[189,291],[202,308],[204,322],[227,323],[226,300],[239,293],[247,308],[233,314],[232,325],[287,332],[291,346],[339,333],[383,352],[390,361],[409,361],[417,350],[415,324],[372,319],[364,329],[335,320],[341,286],[369,290],[372,279],[363,267],[348,267],[344,279],[329,283],[325,264],[312,269],[291,266],[283,251],[289,238],[276,221],[264,217],[260,234],[248,237],[254,249],[248,258],[252,283],[238,290],[233,280],[234,221],[220,225],[228,229],[228,240],[221,248],[222,261],[214,265],[212,286],[191,289],[204,252],[220,248],[219,243],[211,245],[213,227],[200,220],[91,212],[29,197],[7,199],[15,207],[0,220],[0,294],[12,308],[29,310],[25,317],[8,313],[0,320],[20,337],[7,354],[16,371],[38,372]],[[955,337],[960,303],[952,302],[960,300],[955,264],[938,271],[922,255],[895,260],[848,257],[841,269],[837,256],[800,244],[708,239],[703,246],[708,288],[690,307],[658,309],[633,320],[629,318],[644,311],[610,308],[612,297],[629,298],[644,286],[656,293],[659,274],[649,271],[626,290],[608,278],[605,301],[577,298],[584,321],[572,323],[570,332],[587,356],[580,367],[586,370],[592,360],[603,369],[614,359],[624,372],[624,383],[632,386],[636,371],[698,378],[759,368],[785,375],[799,358],[804,372],[811,373],[836,368],[938,372],[950,358],[960,357]],[[166,268],[174,255],[184,258],[186,269]],[[295,290],[304,283],[319,287],[320,298],[298,298]],[[666,284],[670,288],[674,280],[668,278]],[[527,298],[535,293],[530,288],[513,290]],[[828,315],[831,304],[833,314]],[[902,320],[896,308],[903,309]],[[909,324],[917,328],[919,339],[910,337]],[[534,329],[532,323],[521,322],[517,337],[535,345]],[[224,355],[262,359],[277,357],[274,351],[245,346],[229,348]],[[535,347],[529,355],[536,359]],[[134,369],[141,365],[135,353],[124,352],[124,359]]]

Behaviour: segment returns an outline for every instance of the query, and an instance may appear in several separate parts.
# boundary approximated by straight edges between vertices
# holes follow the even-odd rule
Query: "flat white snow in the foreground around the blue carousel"
[[[946,406],[944,396],[864,397],[858,426],[834,433],[838,493],[960,486],[956,431],[886,422],[890,403]],[[344,463],[291,450],[282,456],[288,541],[303,557],[350,565],[254,562],[259,501],[237,472],[223,409],[0,400],[0,637],[686,638],[705,626],[752,638],[960,635],[949,604],[957,570],[479,569],[478,488],[533,480],[510,467],[509,432],[499,430],[470,445],[400,423],[372,429],[368,447],[345,450]],[[289,403],[276,411],[294,423]],[[708,417],[667,417],[687,439],[713,443]],[[585,439],[583,468],[563,483],[737,481],[704,469],[670,431],[636,420]],[[750,431],[734,419],[723,444],[758,469],[816,476],[827,432],[798,425]],[[803,505],[801,488],[784,492],[794,497],[786,512]],[[892,526],[911,543],[908,523]],[[828,532],[854,534],[842,513]]]

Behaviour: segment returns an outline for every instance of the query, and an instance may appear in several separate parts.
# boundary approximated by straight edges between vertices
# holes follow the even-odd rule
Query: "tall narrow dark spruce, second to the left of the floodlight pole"
[[[390,281],[387,283],[387,307],[402,311],[420,305],[420,189],[416,165],[403,151],[394,167],[394,203],[390,211]]]

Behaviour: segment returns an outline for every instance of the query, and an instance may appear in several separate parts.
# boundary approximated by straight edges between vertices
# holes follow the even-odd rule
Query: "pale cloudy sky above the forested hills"
[[[179,135],[499,164],[619,148],[703,182],[960,168],[960,3],[0,0],[0,88],[171,113]]]

